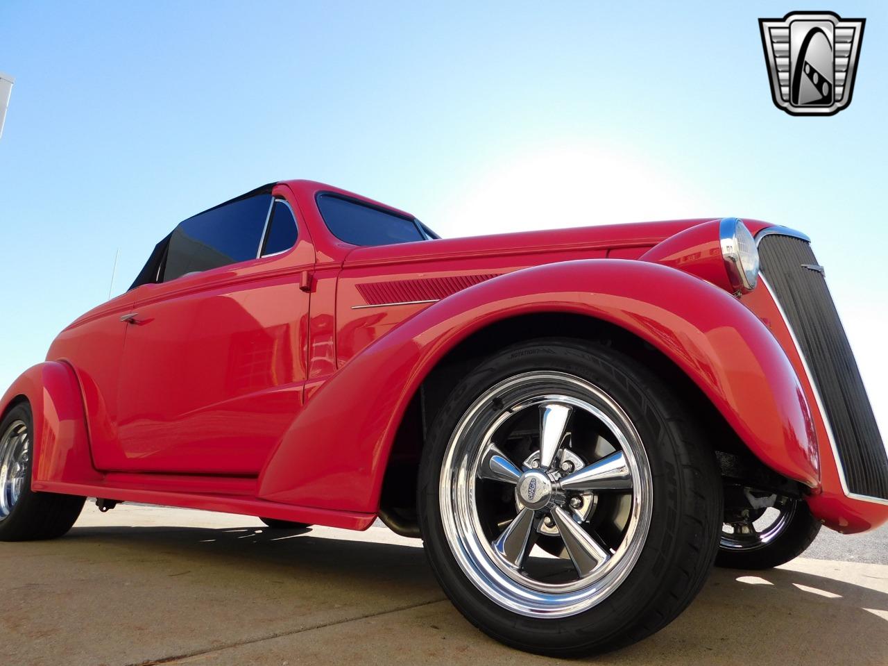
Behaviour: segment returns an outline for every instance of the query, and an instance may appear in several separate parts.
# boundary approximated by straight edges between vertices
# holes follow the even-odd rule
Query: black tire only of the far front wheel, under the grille
[[[772,569],[785,565],[807,550],[821,531],[821,522],[814,518],[805,500],[788,500],[782,511],[790,512],[785,524],[767,542],[747,548],[718,548],[716,566],[728,569]],[[727,536],[727,535],[725,535]]]

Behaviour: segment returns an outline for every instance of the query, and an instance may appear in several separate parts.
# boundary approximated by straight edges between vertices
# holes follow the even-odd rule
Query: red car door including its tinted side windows
[[[287,194],[234,200],[170,236],[163,281],[136,290],[119,445],[102,467],[258,474],[306,377],[314,251]]]

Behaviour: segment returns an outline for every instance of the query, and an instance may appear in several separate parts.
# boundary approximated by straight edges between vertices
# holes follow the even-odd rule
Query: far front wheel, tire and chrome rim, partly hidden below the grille
[[[805,500],[778,498],[773,507],[734,516],[722,526],[717,566],[770,569],[797,558],[821,531]]]

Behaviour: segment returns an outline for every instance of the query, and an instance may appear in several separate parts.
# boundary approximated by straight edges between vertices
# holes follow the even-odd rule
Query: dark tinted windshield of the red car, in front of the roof
[[[317,197],[327,229],[352,245],[395,245],[425,240],[416,221],[329,194]]]

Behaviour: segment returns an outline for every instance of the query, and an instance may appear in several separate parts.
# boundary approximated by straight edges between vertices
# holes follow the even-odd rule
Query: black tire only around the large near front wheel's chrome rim
[[[482,593],[453,555],[440,512],[441,466],[456,424],[491,386],[534,370],[570,373],[607,391],[645,443],[653,478],[652,519],[630,573],[598,605],[559,619],[514,613]],[[710,573],[723,503],[715,455],[673,391],[632,358],[604,344],[569,339],[504,349],[453,390],[424,447],[417,500],[432,570],[457,609],[506,645],[559,657],[629,645],[677,617]]]

